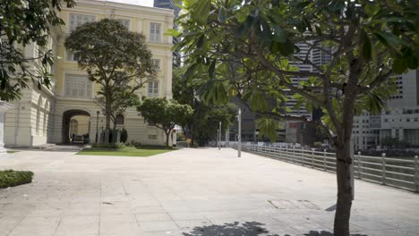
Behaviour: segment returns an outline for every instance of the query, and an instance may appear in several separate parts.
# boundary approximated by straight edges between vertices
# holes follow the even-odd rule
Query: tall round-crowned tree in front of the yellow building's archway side
[[[65,39],[65,47],[78,59],[89,80],[97,82],[104,99],[105,133],[109,134],[113,105],[120,89],[134,94],[156,77],[151,52],[141,33],[131,32],[117,20],[88,22]],[[107,139],[106,139],[107,140]]]

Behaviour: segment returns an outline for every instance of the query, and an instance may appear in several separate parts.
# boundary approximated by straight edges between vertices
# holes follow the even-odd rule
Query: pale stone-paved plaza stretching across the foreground
[[[332,235],[334,173],[230,148],[150,157],[21,151],[0,169],[34,181],[0,190],[0,236]],[[419,235],[419,195],[355,181],[354,235]]]

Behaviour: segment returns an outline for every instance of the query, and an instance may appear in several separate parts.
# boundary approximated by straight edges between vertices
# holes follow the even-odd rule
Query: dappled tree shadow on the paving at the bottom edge
[[[263,227],[264,223],[246,222],[246,223],[224,223],[199,226],[192,229],[191,232],[184,232],[184,236],[279,236],[275,232],[269,232]],[[307,236],[333,236],[332,232],[310,231],[304,233]],[[351,234],[352,236],[367,236],[363,234]],[[284,236],[290,236],[284,234]]]

